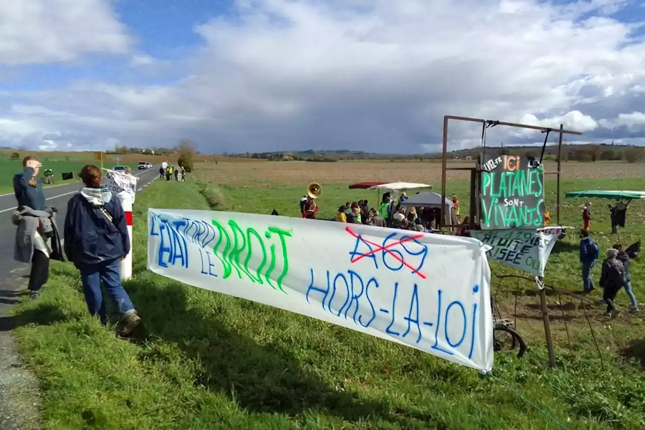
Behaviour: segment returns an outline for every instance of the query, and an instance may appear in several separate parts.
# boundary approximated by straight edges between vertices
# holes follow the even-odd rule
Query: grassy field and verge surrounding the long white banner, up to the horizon
[[[564,176],[563,192],[642,189],[642,165],[563,166],[571,176]],[[557,360],[557,369],[550,371],[535,286],[499,285],[493,276],[493,294],[505,317],[517,314],[517,329],[530,351],[522,359],[496,354],[494,376],[482,377],[421,351],[145,269],[148,207],[264,214],[275,208],[297,216],[306,185],[317,181],[323,185],[321,215],[331,218],[344,201],[376,203],[370,191],[348,190],[352,181],[424,181],[438,190],[435,163],[223,162],[201,163],[197,169],[197,178],[190,180],[199,182],[157,181],[137,197],[135,276],[126,289],[144,329],[134,340],[118,340],[87,316],[79,276],[68,263],[54,263],[42,296],[16,309],[21,349],[45,391],[46,428],[644,428],[645,323],[625,312],[624,292],[617,300],[624,311],[617,320],[606,320],[604,309],[593,303],[598,293],[585,302],[602,365],[581,300],[548,297]],[[458,172],[449,179],[448,192],[467,201],[468,183]],[[553,207],[555,182],[546,187]],[[564,225],[581,223],[581,203],[564,201]],[[604,251],[617,238],[608,234],[606,202],[593,203],[592,229]],[[622,243],[642,238],[644,218],[645,205],[631,203]],[[581,289],[577,243],[575,237],[558,243],[546,283]],[[496,263],[491,269],[493,275],[517,273]],[[645,300],[641,261],[633,261],[632,272],[633,289]]]

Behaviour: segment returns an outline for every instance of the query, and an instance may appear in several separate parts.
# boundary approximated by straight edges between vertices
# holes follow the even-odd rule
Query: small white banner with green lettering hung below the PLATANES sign
[[[566,227],[540,229],[470,230],[471,236],[493,247],[489,258],[537,276],[544,276],[553,245]]]

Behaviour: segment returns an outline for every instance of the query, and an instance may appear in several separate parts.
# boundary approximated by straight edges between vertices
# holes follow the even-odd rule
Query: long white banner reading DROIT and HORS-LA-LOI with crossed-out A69
[[[490,247],[283,216],[148,209],[148,269],[490,371]]]

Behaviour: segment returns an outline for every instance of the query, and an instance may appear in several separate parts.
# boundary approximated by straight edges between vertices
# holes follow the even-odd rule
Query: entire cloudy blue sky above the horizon
[[[1,147],[437,152],[444,115],[645,145],[640,0],[20,0],[0,23]],[[449,150],[477,145],[451,121]]]

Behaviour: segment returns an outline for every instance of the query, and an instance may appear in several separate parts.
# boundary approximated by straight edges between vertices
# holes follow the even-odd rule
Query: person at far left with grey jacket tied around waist
[[[60,236],[55,223],[54,207],[46,207],[43,184],[37,179],[43,167],[34,156],[23,159],[23,172],[14,176],[14,194],[18,208],[12,216],[18,227],[15,235],[14,260],[31,263],[29,292],[36,298],[49,279],[49,260],[62,259]]]

